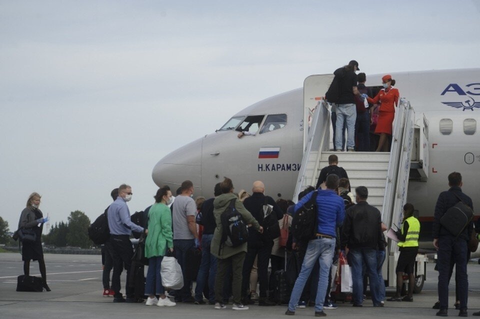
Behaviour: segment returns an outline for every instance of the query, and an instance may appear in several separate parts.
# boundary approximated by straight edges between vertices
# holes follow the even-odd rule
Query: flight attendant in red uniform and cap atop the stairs
[[[391,135],[391,125],[395,116],[395,107],[398,105],[399,92],[394,88],[395,80],[390,74],[384,75],[382,78],[383,88],[380,89],[375,97],[365,96],[368,103],[380,103],[378,112],[378,122],[375,127],[375,134],[380,134],[378,147],[375,151],[388,151],[388,136]]]

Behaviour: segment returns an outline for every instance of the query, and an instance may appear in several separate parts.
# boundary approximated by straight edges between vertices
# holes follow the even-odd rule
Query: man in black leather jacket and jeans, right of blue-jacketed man
[[[351,266],[353,306],[361,306],[363,302],[363,264],[370,280],[373,306],[383,306],[378,295],[380,282],[376,270],[377,250],[383,245],[381,214],[366,202],[368,189],[365,186],[356,187],[355,193],[357,204],[346,210],[340,232],[340,249],[345,250],[345,246],[349,249],[347,259]]]

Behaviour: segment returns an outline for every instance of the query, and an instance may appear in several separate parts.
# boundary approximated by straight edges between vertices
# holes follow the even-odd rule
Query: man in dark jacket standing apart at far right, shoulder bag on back
[[[456,282],[460,300],[460,312],[458,315],[466,317],[468,315],[466,311],[468,299],[468,278],[466,274],[467,242],[473,231],[473,222],[470,222],[456,236],[456,234],[450,233],[441,226],[440,218],[448,208],[454,206],[460,200],[470,206],[471,209],[473,209],[473,204],[470,197],[461,191],[462,182],[459,172],[452,172],[448,175],[448,185],[450,189],[442,191],[438,196],[433,216],[433,245],[438,250],[436,264],[438,267],[438,300],[440,301],[440,310],[438,310],[436,315],[447,316],[450,260],[452,260],[456,265],[455,272],[458,279]]]

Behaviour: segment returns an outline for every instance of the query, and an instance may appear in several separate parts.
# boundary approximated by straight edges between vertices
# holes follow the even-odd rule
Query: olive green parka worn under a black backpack
[[[258,221],[251,215],[251,213],[248,210],[246,210],[246,208],[243,206],[243,203],[238,199],[238,197],[235,194],[230,192],[226,194],[221,194],[218,197],[216,197],[215,200],[213,201],[213,216],[215,217],[216,228],[215,228],[215,231],[213,232],[213,238],[211,239],[210,252],[211,254],[213,254],[215,257],[219,259],[225,259],[225,258],[231,257],[242,251],[246,252],[246,242],[245,242],[236,247],[223,245],[222,248],[220,249],[220,253],[218,253],[218,248],[220,247],[221,235],[223,232],[220,216],[222,212],[225,211],[226,207],[228,207],[230,200],[232,200],[233,198],[237,199],[235,201],[235,208],[241,214],[241,216],[243,217],[243,220],[247,224],[251,224],[251,227],[255,227],[257,230],[260,230],[260,224],[258,223]]]

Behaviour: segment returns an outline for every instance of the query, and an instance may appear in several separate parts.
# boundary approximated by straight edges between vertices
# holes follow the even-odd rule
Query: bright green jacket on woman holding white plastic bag
[[[148,210],[148,234],[145,239],[145,257],[164,256],[166,248],[173,247],[170,209],[160,202]]]

